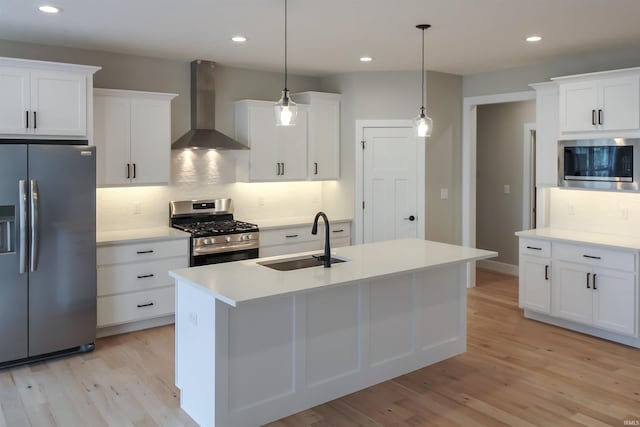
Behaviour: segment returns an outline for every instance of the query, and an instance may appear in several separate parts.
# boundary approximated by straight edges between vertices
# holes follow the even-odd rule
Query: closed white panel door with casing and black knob
[[[410,120],[358,120],[356,144],[356,243],[424,239],[425,140]]]

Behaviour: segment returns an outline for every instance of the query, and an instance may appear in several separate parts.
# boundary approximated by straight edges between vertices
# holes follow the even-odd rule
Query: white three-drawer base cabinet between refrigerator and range
[[[168,272],[189,266],[188,238],[100,246],[97,255],[98,328],[129,324],[130,331],[147,327],[135,322],[173,315]]]

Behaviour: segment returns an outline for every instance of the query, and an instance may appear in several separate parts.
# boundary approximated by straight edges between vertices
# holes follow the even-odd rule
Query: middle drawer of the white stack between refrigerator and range
[[[168,271],[189,266],[187,257],[98,267],[98,296],[170,286]]]

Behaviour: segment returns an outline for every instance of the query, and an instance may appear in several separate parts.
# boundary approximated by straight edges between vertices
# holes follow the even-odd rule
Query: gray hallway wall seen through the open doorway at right
[[[524,124],[535,119],[535,101],[478,106],[476,246],[497,251],[492,261],[518,265],[514,233],[522,229]],[[504,194],[505,184],[510,194]]]

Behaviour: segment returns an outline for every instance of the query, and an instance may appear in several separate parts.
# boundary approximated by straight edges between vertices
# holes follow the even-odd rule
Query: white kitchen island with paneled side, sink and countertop
[[[466,350],[469,261],[495,252],[404,239],[171,271],[176,385],[202,426],[257,426]],[[308,256],[299,254],[299,256]]]

